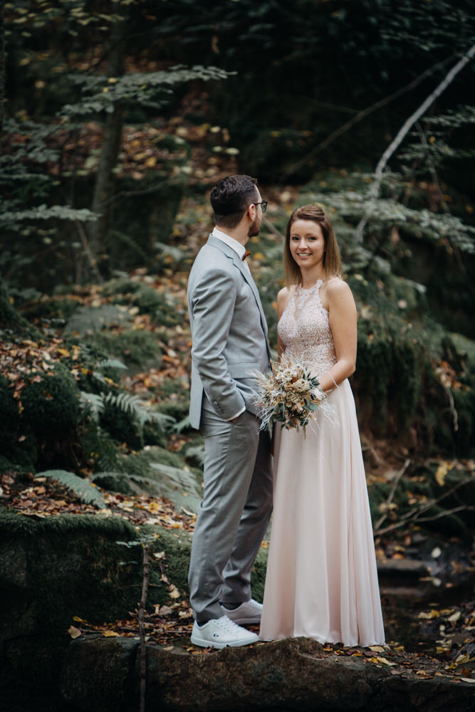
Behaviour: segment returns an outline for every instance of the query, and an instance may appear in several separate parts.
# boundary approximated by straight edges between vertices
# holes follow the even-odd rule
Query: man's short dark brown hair
[[[216,225],[234,228],[252,201],[257,200],[257,180],[251,176],[226,176],[212,189],[209,197]]]

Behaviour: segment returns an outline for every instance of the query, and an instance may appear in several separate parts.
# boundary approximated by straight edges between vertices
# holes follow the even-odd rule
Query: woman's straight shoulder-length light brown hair
[[[340,250],[333,232],[332,224],[328,215],[319,205],[303,205],[296,208],[291,214],[286,232],[286,244],[283,248],[283,267],[285,270],[286,287],[293,284],[302,283],[300,267],[291,254],[291,227],[296,220],[313,220],[320,225],[323,238],[325,239],[325,253],[323,254],[323,266],[325,267],[325,279],[330,277],[343,277],[343,267],[341,264]]]

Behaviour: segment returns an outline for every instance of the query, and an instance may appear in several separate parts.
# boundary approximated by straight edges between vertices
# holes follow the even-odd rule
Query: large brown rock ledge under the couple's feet
[[[325,654],[305,638],[179,654],[147,646],[147,712],[469,712],[470,684]],[[68,646],[61,698],[68,709],[128,712],[138,708],[140,649],[131,639],[87,637]]]

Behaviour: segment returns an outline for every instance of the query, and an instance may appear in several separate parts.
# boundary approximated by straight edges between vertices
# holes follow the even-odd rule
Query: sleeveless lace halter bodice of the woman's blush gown
[[[320,300],[322,284],[319,279],[310,289],[298,285],[278,323],[286,354],[292,360],[307,362],[318,376],[336,363],[328,311]]]

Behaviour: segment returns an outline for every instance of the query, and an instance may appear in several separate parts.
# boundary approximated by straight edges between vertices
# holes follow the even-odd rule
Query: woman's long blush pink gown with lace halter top
[[[317,375],[335,364],[322,281],[291,298],[278,333]],[[348,380],[302,429],[276,426],[274,506],[260,637],[382,644],[380,592],[355,401]],[[332,422],[333,421],[333,422]]]

